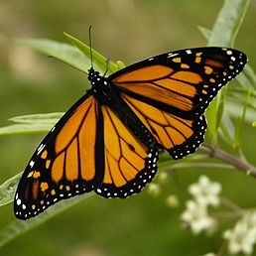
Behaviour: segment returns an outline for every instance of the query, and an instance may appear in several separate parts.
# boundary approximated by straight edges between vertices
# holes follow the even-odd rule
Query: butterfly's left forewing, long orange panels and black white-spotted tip
[[[92,96],[68,110],[38,147],[18,186],[18,218],[39,214],[62,198],[90,192],[104,175],[102,114]]]

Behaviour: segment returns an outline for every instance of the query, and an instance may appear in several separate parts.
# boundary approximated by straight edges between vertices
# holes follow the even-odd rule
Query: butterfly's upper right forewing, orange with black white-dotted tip
[[[109,78],[130,96],[192,120],[246,61],[243,53],[232,49],[188,49],[127,66]]]

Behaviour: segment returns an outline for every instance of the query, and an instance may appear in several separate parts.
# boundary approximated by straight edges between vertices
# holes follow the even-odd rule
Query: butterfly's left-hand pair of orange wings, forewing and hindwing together
[[[157,161],[153,144],[145,146],[113,110],[85,96],[33,155],[15,195],[15,214],[27,219],[83,192],[127,197],[151,182]]]

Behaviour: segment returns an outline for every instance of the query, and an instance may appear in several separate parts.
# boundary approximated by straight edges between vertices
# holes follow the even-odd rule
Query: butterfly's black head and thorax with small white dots
[[[95,71],[92,67],[88,70],[88,80],[91,83],[91,88],[88,93],[91,93],[102,104],[111,100],[110,97],[110,82],[107,77],[100,75],[98,71]]]

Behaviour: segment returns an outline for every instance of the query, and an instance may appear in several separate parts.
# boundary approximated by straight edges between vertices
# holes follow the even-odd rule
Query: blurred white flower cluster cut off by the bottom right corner
[[[230,254],[241,252],[250,255],[256,243],[256,211],[245,212],[232,229],[224,232],[223,237],[228,240]]]

